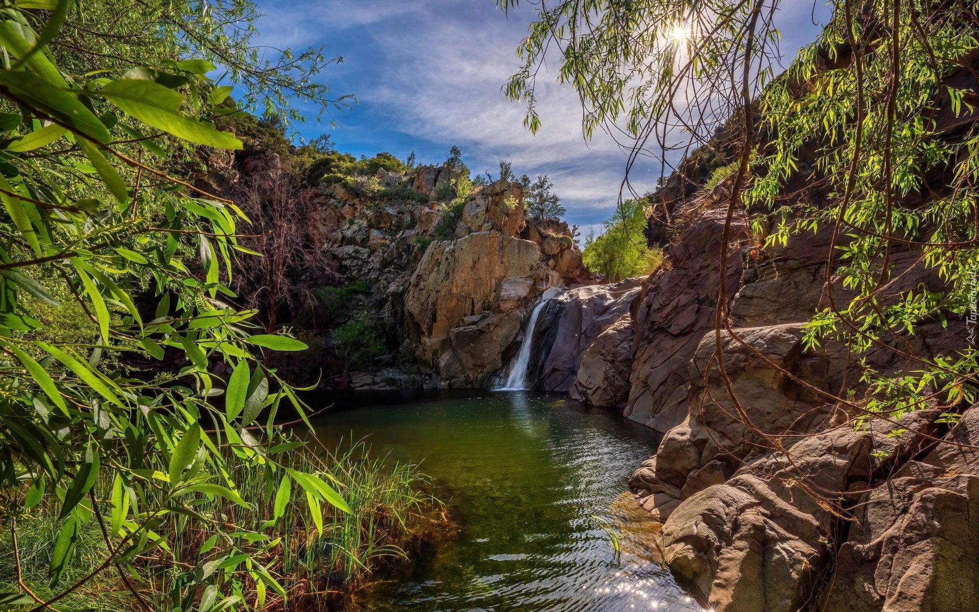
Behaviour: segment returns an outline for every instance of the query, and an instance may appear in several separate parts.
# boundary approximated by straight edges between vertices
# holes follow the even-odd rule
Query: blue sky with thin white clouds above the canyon
[[[783,0],[777,24],[787,59],[815,39],[826,19],[824,0]],[[449,147],[462,149],[475,172],[495,174],[499,160],[514,171],[547,174],[570,223],[586,233],[615,208],[626,155],[608,137],[585,142],[581,107],[570,87],[538,87],[543,121],[536,136],[522,125],[524,109],[507,102],[500,86],[519,68],[515,50],[534,18],[522,2],[504,15],[493,0],[260,0],[257,44],[276,48],[326,45],[344,63],[319,75],[331,93],[356,95],[359,104],[342,125],[309,120],[307,138],[329,132],[338,149],[354,155],[388,151],[439,163]],[[787,63],[787,62],[786,62]],[[634,167],[630,181],[651,189],[658,164]]]

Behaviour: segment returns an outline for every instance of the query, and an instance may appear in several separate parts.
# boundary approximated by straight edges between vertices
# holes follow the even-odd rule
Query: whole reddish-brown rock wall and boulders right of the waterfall
[[[850,297],[826,285],[825,231],[762,252],[735,223],[723,270],[732,331],[719,336],[724,219],[710,197],[691,202],[667,269],[643,284],[633,330],[623,320],[585,353],[575,391],[614,405],[608,390],[634,355],[625,413],[665,436],[629,485],[663,522],[666,563],[719,612],[979,611],[979,405],[951,431],[937,402],[858,431],[856,407],[827,403],[858,370],[843,347],[802,340],[830,289]],[[893,254],[884,304],[939,288],[920,259]],[[911,371],[915,355],[961,351],[964,335],[959,319],[924,324],[866,358]]]

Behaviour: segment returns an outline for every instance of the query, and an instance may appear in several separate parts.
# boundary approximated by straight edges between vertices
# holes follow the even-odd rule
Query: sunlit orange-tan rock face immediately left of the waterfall
[[[497,181],[474,191],[451,237],[428,245],[402,285],[403,347],[439,386],[488,387],[518,350],[539,297],[588,278],[567,225],[528,221],[522,203],[516,183]],[[446,219],[430,221],[422,237],[435,237],[433,228]]]

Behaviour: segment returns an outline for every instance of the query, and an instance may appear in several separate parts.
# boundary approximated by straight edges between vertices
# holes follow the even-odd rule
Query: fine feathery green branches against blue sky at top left
[[[190,0],[91,0],[68,11],[48,53],[62,71],[72,74],[91,70],[120,74],[134,67],[148,70],[144,75],[153,71],[163,85],[185,83],[197,89],[195,105],[220,105],[233,86],[242,94],[244,109],[274,113],[287,129],[290,123],[303,121],[299,107],[314,109],[317,119],[348,109],[352,96],[331,96],[319,77],[341,58],[328,58],[325,45],[297,50],[258,46],[259,15],[251,0],[228,0],[206,9]],[[15,16],[9,19],[18,21]],[[175,58],[192,59],[174,62]],[[215,66],[221,67],[223,84],[208,88],[203,77],[215,73]],[[93,78],[101,76],[105,74]]]

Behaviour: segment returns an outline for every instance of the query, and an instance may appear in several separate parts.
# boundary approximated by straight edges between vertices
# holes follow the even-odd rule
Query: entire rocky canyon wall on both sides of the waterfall
[[[531,343],[537,390],[622,409],[664,434],[629,486],[662,522],[650,545],[704,605],[979,611],[979,406],[959,406],[956,422],[936,402],[855,429],[856,408],[834,399],[859,387],[853,356],[803,341],[830,290],[850,298],[838,277],[827,281],[828,229],[762,249],[742,213],[726,223],[724,183],[705,192],[668,181],[652,212],[670,222],[654,214],[647,232],[663,265],[598,284],[566,224],[525,217],[519,185],[434,201],[452,179],[422,166],[379,170],[369,189],[318,189],[315,248],[342,282],[363,284],[351,308],[399,347],[399,361],[382,355],[345,383],[490,388]],[[920,252],[898,250],[891,263],[885,304],[942,288]],[[719,334],[722,280],[730,329]],[[881,340],[867,359],[910,372],[964,347],[964,321],[949,317]]]

